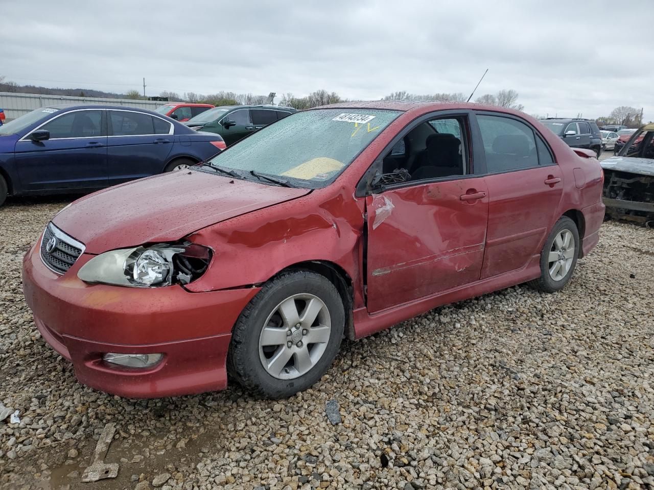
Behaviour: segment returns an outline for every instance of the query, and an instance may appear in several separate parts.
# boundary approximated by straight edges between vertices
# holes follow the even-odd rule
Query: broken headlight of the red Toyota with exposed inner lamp
[[[77,277],[84,282],[131,287],[188,284],[204,274],[211,250],[198,244],[157,244],[101,253],[84,264]]]

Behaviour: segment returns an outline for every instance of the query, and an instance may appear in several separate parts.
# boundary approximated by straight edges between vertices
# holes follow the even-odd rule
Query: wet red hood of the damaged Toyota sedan
[[[199,171],[177,171],[82,197],[52,222],[88,253],[179,240],[235,216],[307,195]]]

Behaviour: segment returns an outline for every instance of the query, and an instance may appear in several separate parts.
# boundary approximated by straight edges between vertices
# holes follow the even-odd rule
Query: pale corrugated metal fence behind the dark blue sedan
[[[158,106],[165,104],[165,102],[138,101],[134,99],[104,99],[101,97],[71,97],[69,95],[41,95],[39,93],[0,92],[0,109],[5,110],[7,122],[19,118],[23,114],[27,114],[27,112],[31,112],[39,107],[55,104],[126,105],[154,110]]]

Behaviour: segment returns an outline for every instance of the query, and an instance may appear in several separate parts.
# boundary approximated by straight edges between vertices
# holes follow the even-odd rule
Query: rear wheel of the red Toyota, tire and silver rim
[[[541,276],[528,282],[529,286],[545,293],[563,289],[577,265],[580,244],[575,222],[567,216],[560,218],[540,254]]]

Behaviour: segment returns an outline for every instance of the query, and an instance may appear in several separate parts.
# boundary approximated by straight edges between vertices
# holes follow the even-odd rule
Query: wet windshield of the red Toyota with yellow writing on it
[[[334,180],[401,112],[318,109],[296,112],[230,146],[209,163],[318,188]]]

